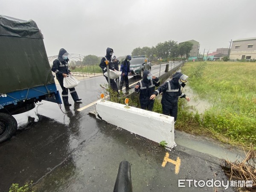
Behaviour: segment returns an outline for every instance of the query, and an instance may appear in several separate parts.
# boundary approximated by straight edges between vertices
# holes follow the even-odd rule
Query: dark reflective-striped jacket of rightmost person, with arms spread
[[[172,80],[166,81],[154,92],[156,96],[163,92],[161,103],[162,105],[165,105],[166,108],[176,106],[179,97],[186,97],[186,95],[180,90],[181,86],[179,84],[179,79],[182,75],[182,73],[176,72],[173,75]]]

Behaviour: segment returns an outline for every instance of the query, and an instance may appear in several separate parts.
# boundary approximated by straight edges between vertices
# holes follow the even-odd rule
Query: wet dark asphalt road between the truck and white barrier
[[[153,66],[152,71],[159,73],[158,66]],[[139,79],[129,80],[132,84]],[[11,140],[0,144],[1,192],[7,192],[12,183],[22,186],[31,180],[36,183],[34,191],[111,192],[122,160],[131,163],[134,192],[212,192],[212,187],[179,188],[178,179],[227,181],[214,157],[180,145],[167,151],[157,143],[89,116],[94,105],[77,111],[99,99],[99,84],[105,83],[103,76],[81,81],[76,90],[82,103],[74,104],[70,97],[72,106],[62,105],[66,114],[57,104],[43,101],[33,110],[15,115],[19,130]],[[162,167],[166,152],[170,159],[180,159],[177,174],[177,165],[167,163]]]

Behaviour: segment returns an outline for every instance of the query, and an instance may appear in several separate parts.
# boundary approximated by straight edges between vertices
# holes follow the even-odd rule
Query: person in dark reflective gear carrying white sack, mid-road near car
[[[99,67],[102,68],[103,76],[104,76],[104,73],[107,71],[106,62],[108,62],[109,64],[109,70],[115,71],[115,68],[113,67],[112,54],[113,54],[113,49],[108,47],[106,51],[106,56],[103,57],[102,60],[100,61]],[[107,82],[108,82],[108,77],[105,76],[105,78],[107,79]],[[119,95],[118,88],[114,79],[110,79],[110,85],[111,85],[111,89],[116,91],[117,94]]]

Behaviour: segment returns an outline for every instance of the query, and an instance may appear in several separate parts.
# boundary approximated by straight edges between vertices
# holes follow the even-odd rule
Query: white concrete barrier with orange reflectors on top
[[[167,147],[176,146],[174,141],[174,118],[172,116],[146,111],[139,108],[125,108],[125,105],[109,102],[96,102],[96,113],[102,120],[131,131]]]

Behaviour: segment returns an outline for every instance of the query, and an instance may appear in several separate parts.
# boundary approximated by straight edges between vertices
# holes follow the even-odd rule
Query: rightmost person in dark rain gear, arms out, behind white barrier
[[[185,82],[188,76],[176,72],[170,81],[163,83],[158,89],[151,95],[150,99],[155,99],[156,96],[163,92],[161,104],[163,109],[163,114],[170,115],[174,117],[176,122],[177,113],[178,113],[178,99],[179,97],[185,98],[187,101],[190,101],[184,93],[182,93],[181,86],[185,87]]]

